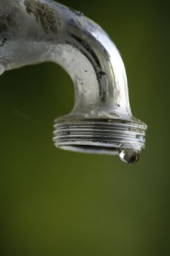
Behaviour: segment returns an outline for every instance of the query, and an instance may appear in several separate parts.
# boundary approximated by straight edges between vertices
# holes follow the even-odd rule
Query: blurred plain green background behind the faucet
[[[74,91],[56,64],[0,78],[0,255],[170,255],[168,1],[78,1],[123,56],[134,116],[148,124],[136,165],[53,146]]]

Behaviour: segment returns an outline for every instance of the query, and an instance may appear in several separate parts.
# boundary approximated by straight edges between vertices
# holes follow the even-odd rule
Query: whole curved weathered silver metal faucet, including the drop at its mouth
[[[61,65],[74,83],[74,108],[55,119],[55,146],[136,162],[147,125],[132,116],[112,39],[82,12],[53,0],[0,0],[0,75],[45,61]]]

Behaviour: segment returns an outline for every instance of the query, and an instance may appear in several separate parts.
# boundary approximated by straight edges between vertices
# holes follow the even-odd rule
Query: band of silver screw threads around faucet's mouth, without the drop
[[[145,126],[131,122],[64,122],[55,124],[53,141],[55,146],[103,146],[144,149]]]

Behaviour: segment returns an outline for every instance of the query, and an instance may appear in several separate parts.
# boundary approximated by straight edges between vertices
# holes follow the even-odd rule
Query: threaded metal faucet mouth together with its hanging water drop
[[[119,119],[58,118],[54,125],[55,146],[64,150],[92,154],[119,155],[132,164],[145,146],[146,124]]]

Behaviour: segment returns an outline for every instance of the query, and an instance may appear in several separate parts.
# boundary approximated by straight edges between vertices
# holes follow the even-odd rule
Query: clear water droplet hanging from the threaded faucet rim
[[[119,157],[126,164],[134,164],[139,160],[140,151],[137,149],[123,148],[119,152]]]

